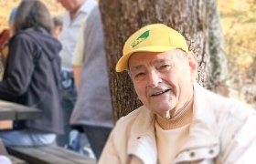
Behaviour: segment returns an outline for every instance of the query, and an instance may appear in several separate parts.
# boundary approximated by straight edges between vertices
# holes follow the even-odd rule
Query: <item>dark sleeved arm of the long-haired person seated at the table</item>
[[[10,100],[27,91],[34,70],[32,45],[24,36],[16,36],[10,43],[0,99]]]

